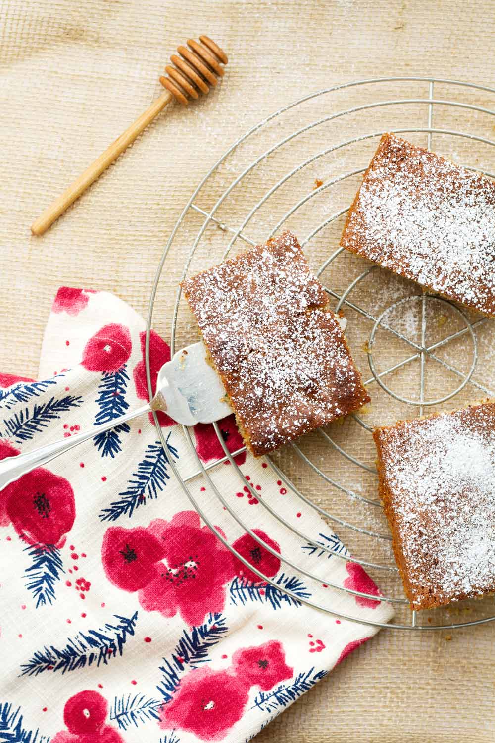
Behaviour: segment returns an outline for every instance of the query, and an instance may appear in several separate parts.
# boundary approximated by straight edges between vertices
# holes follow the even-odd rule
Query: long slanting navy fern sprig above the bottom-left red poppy
[[[117,657],[117,653],[122,656],[128,637],[134,635],[137,611],[132,617],[121,617],[119,614],[114,614],[114,617],[118,620],[117,624],[107,622],[103,628],[78,632],[61,649],[45,645],[27,663],[22,663],[21,675],[37,676],[44,671],[62,671],[64,674],[93,663],[96,666],[100,663],[107,665],[111,658]]]

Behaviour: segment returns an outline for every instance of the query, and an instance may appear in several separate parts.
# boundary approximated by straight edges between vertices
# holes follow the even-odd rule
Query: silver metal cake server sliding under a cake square
[[[338,317],[338,322],[344,332],[347,320]],[[108,423],[93,426],[91,430],[71,435],[71,438],[53,441],[52,444],[45,444],[39,449],[2,459],[0,461],[0,490],[36,467],[47,464],[59,454],[68,452],[82,441],[88,441],[88,438],[94,438],[99,433],[131,421],[132,418],[137,418],[138,415],[144,415],[151,410],[162,410],[174,421],[184,426],[213,423],[232,413],[222,380],[206,361],[206,346],[203,341],[181,348],[170,361],[163,364],[158,372],[157,392],[151,403],[146,403]]]

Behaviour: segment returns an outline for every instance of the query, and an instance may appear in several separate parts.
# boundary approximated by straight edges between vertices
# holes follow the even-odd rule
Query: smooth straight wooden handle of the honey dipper
[[[56,198],[55,201],[45,209],[42,215],[31,224],[31,232],[33,235],[42,235],[48,227],[50,227],[50,224],[53,224],[53,222],[58,219],[59,216],[74,203],[74,201],[76,201],[76,198],[79,198],[85,189],[87,189],[88,186],[91,186],[93,181],[96,181],[96,178],[99,178],[99,176],[102,175],[102,172],[106,170],[114,160],[117,160],[119,155],[124,152],[132,142],[134,142],[136,137],[138,137],[148,124],[154,120],[154,117],[160,114],[160,111],[163,111],[163,108],[165,108],[171,100],[174,100],[174,96],[168,91],[165,91],[165,93],[157,98],[157,100],[151,103],[151,106],[147,108],[146,111],[144,111],[140,117],[128,127],[128,129],[125,129],[125,132],[120,134],[120,136],[117,137],[117,139],[112,142],[107,149],[105,149],[105,152],[102,152],[102,154],[99,155],[99,158],[96,158],[94,163],[91,163],[91,165],[85,169],[85,172],[79,175],[79,178],[76,178],[73,184],[65,189],[62,195],[60,195],[59,198]]]

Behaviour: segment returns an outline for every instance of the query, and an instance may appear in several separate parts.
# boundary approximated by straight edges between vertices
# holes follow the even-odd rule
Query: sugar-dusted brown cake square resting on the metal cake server
[[[183,290],[255,456],[369,402],[292,233],[199,273]]]

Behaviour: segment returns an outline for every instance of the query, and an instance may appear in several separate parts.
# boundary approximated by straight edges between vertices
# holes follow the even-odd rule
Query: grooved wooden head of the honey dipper
[[[188,97],[197,98],[200,93],[207,94],[211,86],[217,85],[217,78],[223,77],[223,65],[229,62],[226,53],[209,36],[200,36],[200,43],[188,39],[187,45],[177,48],[172,54],[171,65],[165,67],[168,77],[160,77],[162,85],[172,95],[187,106]]]

